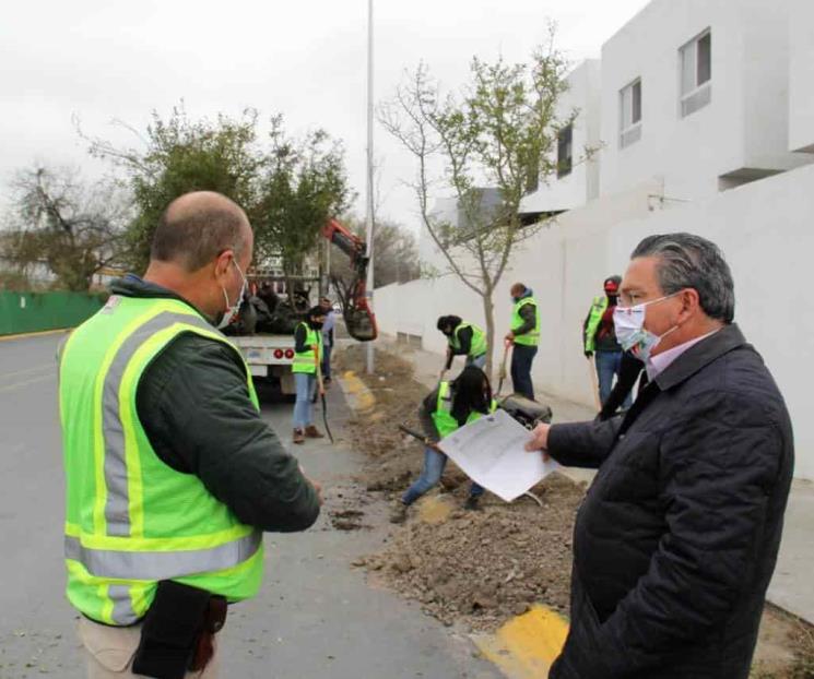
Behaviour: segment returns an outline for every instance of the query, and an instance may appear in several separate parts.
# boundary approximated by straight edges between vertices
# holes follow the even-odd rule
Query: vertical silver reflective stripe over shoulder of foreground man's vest
[[[216,332],[199,315],[163,311],[140,325],[119,347],[105,376],[102,392],[102,430],[105,437],[105,520],[107,534],[121,537],[130,535],[130,510],[127,487],[127,463],[125,458],[125,427],[119,415],[119,388],[130,359],[139,347],[155,333],[173,323],[196,325]],[[219,333],[220,334],[220,333]]]

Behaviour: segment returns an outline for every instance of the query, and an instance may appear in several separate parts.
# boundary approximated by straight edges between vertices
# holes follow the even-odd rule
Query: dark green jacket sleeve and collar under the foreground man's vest
[[[111,290],[189,303],[137,276]],[[316,490],[251,404],[245,364],[222,342],[179,335],[144,370],[135,408],[156,455],[198,476],[243,523],[304,531],[319,516]]]

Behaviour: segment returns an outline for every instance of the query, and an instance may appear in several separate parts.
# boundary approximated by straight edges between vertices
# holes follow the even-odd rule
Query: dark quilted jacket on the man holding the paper
[[[551,679],[745,679],[791,483],[791,422],[735,325],[691,347],[625,416],[556,425],[599,467],[574,531],[571,627]]]

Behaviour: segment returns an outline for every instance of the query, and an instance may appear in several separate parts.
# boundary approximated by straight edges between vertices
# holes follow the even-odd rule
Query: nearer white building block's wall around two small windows
[[[718,178],[786,170],[788,8],[797,0],[653,0],[602,48],[601,194],[662,178],[670,198],[697,200]],[[680,115],[680,49],[710,28],[711,103]],[[641,140],[620,148],[620,91],[640,78]]]

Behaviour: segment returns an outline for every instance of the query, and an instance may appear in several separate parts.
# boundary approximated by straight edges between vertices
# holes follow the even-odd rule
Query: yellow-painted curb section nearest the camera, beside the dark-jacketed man
[[[472,640],[483,656],[509,679],[544,679],[563,650],[567,634],[565,618],[535,604],[495,634],[474,635]]]

